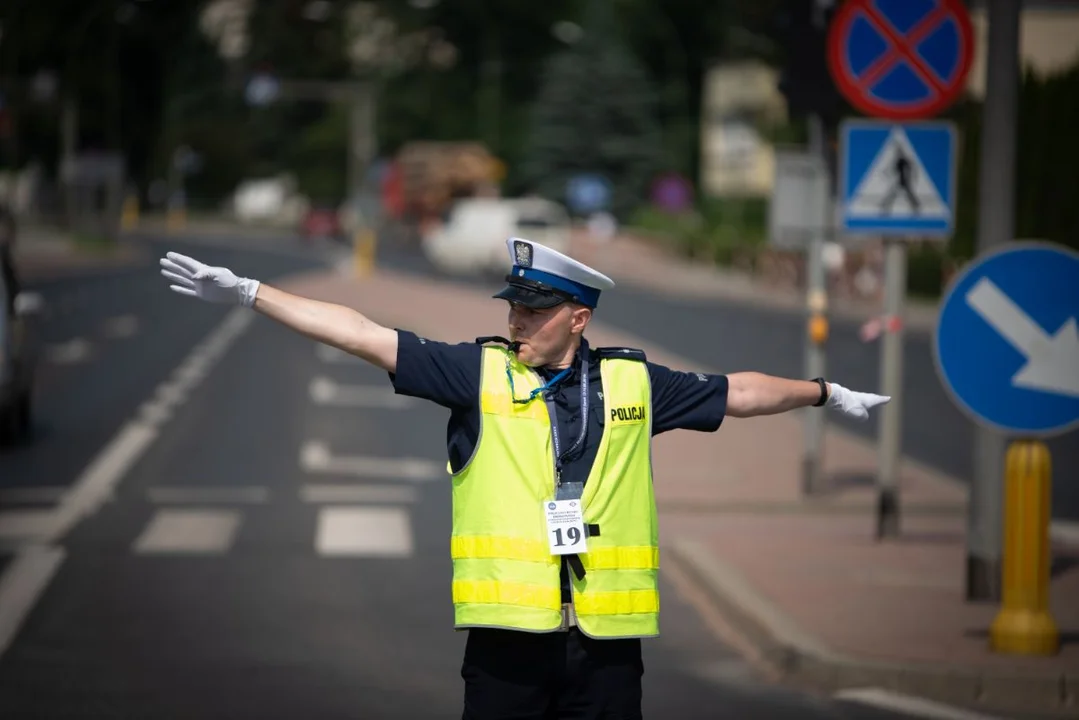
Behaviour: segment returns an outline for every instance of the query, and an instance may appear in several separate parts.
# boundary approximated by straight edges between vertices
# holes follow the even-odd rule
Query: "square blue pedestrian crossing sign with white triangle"
[[[950,122],[847,120],[839,128],[839,229],[945,239],[955,227]]]

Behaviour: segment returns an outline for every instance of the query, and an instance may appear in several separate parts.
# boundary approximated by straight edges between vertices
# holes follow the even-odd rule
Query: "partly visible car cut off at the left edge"
[[[14,287],[13,243],[0,239],[0,440],[30,433],[42,309],[41,296]]]

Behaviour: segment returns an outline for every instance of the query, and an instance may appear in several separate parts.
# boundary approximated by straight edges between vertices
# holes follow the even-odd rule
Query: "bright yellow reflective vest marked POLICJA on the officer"
[[[652,486],[652,400],[639,359],[600,361],[603,434],[585,484],[584,521],[599,526],[571,573],[577,627],[597,638],[659,634],[659,544]],[[480,434],[453,475],[454,625],[533,633],[561,625],[561,559],[547,541],[544,503],[555,499],[555,454],[542,385],[504,348],[486,347]],[[584,421],[587,422],[587,419]]]

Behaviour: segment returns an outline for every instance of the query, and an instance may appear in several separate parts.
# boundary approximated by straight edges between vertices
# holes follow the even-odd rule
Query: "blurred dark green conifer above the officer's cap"
[[[528,190],[562,200],[566,181],[598,173],[612,184],[619,218],[642,203],[663,163],[656,93],[622,45],[606,3],[593,2],[585,36],[542,76],[521,176]]]

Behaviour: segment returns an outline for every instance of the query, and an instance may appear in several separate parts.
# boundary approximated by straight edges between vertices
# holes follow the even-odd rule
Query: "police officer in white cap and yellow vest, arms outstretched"
[[[823,406],[864,419],[888,397],[822,379],[672,370],[584,337],[610,277],[507,241],[508,337],[456,344],[382,327],[168,253],[172,289],[252,308],[451,410],[452,599],[468,630],[465,718],[639,718],[641,638],[659,634],[651,438]]]

